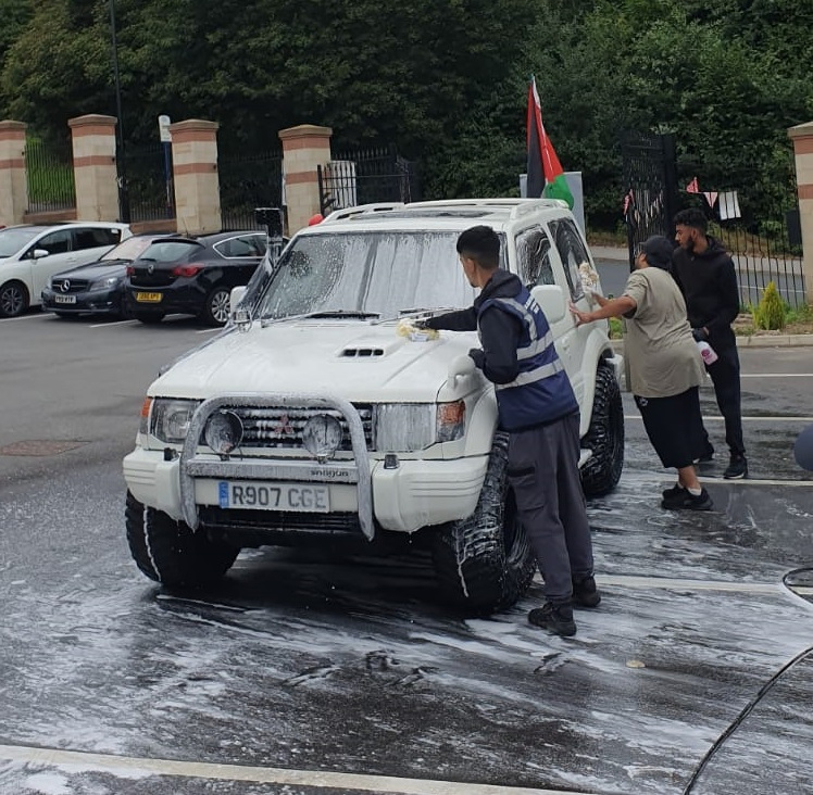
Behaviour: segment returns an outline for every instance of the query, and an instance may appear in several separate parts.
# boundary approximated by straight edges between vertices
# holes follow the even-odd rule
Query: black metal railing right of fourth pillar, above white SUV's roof
[[[375,202],[409,202],[420,198],[415,164],[393,147],[338,152],[317,167],[322,213]]]

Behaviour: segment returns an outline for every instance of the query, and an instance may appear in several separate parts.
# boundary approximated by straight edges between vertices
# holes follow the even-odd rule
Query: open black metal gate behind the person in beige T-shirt
[[[625,132],[622,136],[624,218],[627,226],[629,269],[635,250],[651,235],[675,235],[673,218],[679,209],[677,156],[673,135]]]

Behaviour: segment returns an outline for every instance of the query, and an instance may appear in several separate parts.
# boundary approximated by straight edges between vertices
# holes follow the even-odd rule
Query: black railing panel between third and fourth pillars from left
[[[221,217],[224,229],[259,229],[255,207],[283,206],[283,153],[279,150],[221,150]]]

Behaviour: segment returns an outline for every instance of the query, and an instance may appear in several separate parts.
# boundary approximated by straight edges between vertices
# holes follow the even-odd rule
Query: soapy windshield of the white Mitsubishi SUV
[[[396,318],[409,310],[471,306],[475,290],[460,266],[456,240],[453,231],[303,235],[280,257],[258,314]]]

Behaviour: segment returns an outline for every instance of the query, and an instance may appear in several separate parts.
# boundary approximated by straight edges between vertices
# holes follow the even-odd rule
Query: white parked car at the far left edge
[[[110,222],[0,229],[0,317],[16,317],[39,305],[52,276],[98,260],[128,237],[126,224]]]

